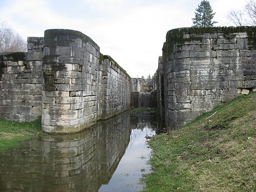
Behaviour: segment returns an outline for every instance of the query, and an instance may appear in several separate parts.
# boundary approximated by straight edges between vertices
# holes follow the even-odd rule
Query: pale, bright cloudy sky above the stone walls
[[[24,39],[47,29],[73,29],[91,37],[131,77],[153,75],[167,31],[191,27],[201,0],[0,0],[0,22]],[[210,0],[215,26],[246,0]]]

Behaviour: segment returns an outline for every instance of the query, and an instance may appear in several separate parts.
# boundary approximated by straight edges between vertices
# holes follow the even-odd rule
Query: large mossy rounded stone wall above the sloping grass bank
[[[256,28],[180,28],[163,46],[165,123],[181,127],[256,86]],[[158,86],[159,89],[159,86]]]

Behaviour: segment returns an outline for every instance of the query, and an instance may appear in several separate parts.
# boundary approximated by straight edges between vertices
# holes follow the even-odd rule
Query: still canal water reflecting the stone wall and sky
[[[154,116],[122,113],[92,130],[46,135],[0,153],[0,191],[140,191],[159,132]]]

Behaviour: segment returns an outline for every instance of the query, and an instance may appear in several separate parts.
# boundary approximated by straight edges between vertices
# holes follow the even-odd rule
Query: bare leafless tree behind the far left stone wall
[[[26,51],[27,42],[6,22],[0,23],[0,52]]]

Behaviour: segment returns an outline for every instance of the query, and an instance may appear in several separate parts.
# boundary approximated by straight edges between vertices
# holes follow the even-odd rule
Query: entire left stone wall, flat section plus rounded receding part
[[[0,55],[0,118],[41,118],[42,130],[73,133],[130,108],[130,76],[88,36],[46,30],[27,53]]]

